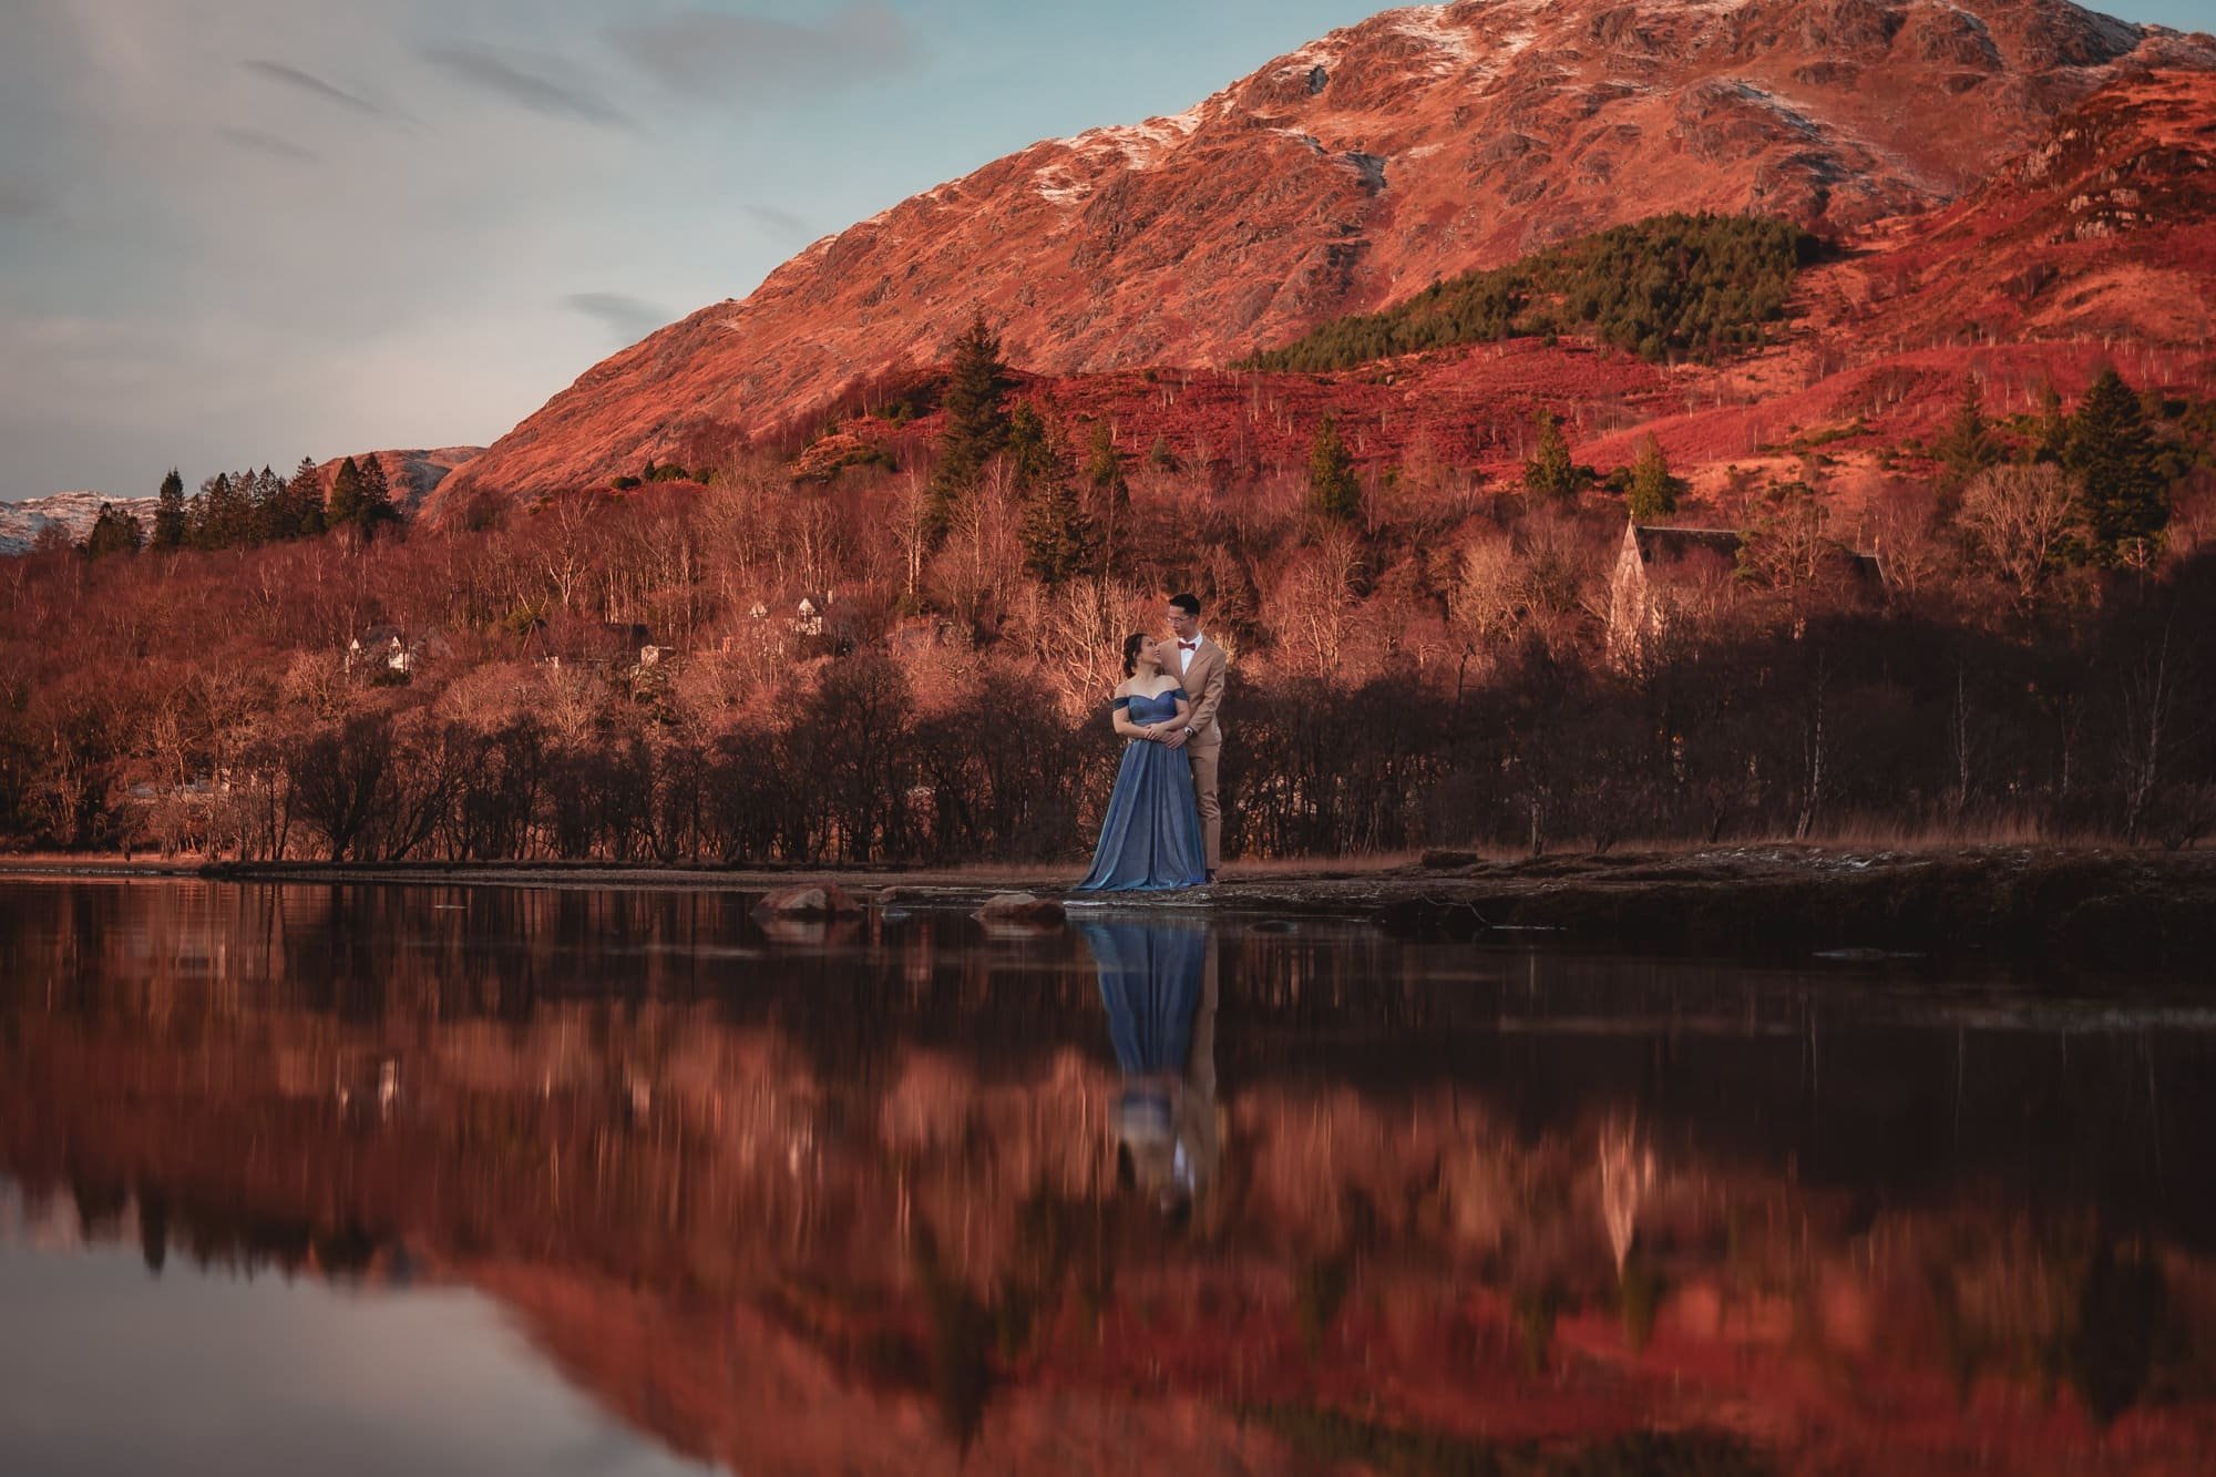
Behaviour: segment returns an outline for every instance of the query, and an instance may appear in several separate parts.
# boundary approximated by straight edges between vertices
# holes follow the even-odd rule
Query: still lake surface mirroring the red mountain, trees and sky
[[[2216,1011],[0,880],[9,1473],[2207,1470]]]

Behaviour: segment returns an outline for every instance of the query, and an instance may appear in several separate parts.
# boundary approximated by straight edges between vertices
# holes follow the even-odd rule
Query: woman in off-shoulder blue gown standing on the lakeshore
[[[1124,745],[1092,872],[1077,892],[1161,892],[1208,880],[1201,812],[1192,801],[1192,761],[1163,743],[1186,727],[1192,701],[1163,670],[1152,636],[1124,641],[1124,683],[1108,703]]]

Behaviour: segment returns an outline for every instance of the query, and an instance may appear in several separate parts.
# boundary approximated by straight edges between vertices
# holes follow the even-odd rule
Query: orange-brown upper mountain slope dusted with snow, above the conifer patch
[[[450,479],[536,495],[711,455],[973,308],[1048,375],[1221,366],[1671,208],[1828,235],[1955,202],[2070,104],[2216,42],[2063,0],[1463,0],[1385,11],[1174,118],[995,160],[596,364]]]

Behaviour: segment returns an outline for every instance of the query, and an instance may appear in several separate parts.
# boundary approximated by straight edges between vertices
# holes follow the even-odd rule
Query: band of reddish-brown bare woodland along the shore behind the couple
[[[1629,483],[1558,426],[1522,477],[1358,470],[1325,417],[1225,483],[1010,386],[977,322],[937,430],[831,477],[736,448],[233,543],[204,492],[160,548],[0,561],[0,838],[1077,867],[1121,636],[1177,590],[1234,661],[1234,858],[2216,825],[2207,404],[1966,381],[1859,532],[1810,450],[1680,515],[1724,557],[1627,570],[1627,497],[1680,483],[1651,441]]]

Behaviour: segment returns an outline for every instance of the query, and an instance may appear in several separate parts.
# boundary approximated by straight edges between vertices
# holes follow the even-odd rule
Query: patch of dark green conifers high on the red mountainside
[[[1542,333],[1589,333],[1649,361],[1715,359],[1784,317],[1817,246],[1766,215],[1655,215],[1332,319],[1243,368],[1323,373]]]

